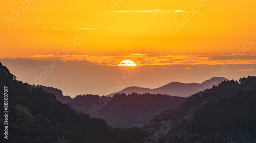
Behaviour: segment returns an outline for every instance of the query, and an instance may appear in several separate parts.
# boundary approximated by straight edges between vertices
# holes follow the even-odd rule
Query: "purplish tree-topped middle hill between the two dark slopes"
[[[163,110],[175,108],[185,101],[183,97],[149,93],[116,94],[114,97],[77,95],[73,99],[52,87],[36,87],[55,94],[60,102],[69,103],[77,112],[83,111],[94,118],[103,119],[113,127],[141,127]]]

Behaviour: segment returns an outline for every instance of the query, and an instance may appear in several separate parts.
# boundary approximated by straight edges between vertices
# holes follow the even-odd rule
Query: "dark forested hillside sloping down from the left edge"
[[[0,121],[0,142],[130,143],[144,142],[148,136],[148,133],[136,127],[111,128],[102,119],[91,118],[81,112],[76,113],[72,107],[60,103],[53,94],[17,81],[16,77],[1,63],[0,87],[2,95],[0,119],[4,118],[4,100],[5,103],[8,101],[8,107],[7,104],[5,106],[9,111],[9,113],[4,113],[8,115],[8,118],[4,119],[5,121],[8,119],[8,122]],[[6,93],[5,99],[4,92]],[[4,123],[8,124],[4,125]]]

